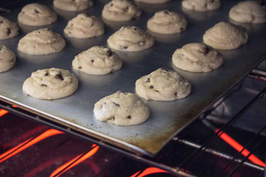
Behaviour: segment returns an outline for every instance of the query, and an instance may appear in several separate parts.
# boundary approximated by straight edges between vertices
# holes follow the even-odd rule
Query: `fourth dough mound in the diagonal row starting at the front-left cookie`
[[[156,12],[148,20],[147,27],[149,30],[160,34],[180,33],[186,29],[188,21],[184,15],[169,10]]]

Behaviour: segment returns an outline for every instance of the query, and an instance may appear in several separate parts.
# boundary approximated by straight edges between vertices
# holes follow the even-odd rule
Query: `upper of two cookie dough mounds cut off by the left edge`
[[[18,26],[15,22],[0,16],[0,40],[9,39],[18,35]]]

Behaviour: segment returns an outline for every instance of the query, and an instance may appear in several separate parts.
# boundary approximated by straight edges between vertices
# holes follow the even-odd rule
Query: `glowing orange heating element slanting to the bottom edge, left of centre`
[[[65,163],[64,165],[60,166],[58,169],[56,169],[55,171],[52,172],[52,174],[50,175],[50,177],[57,177],[59,175],[61,175],[62,173],[64,173],[65,171],[71,169],[72,167],[78,165],[79,163],[83,162],[84,160],[88,159],[89,157],[93,156],[93,154],[95,154],[98,149],[99,146],[96,146],[96,144],[92,145],[93,149],[90,150],[88,153],[86,153],[84,155],[84,153],[80,154],[79,156],[73,158],[72,160],[70,160],[69,162]],[[82,156],[83,155],[83,156]],[[82,156],[82,157],[81,157]],[[81,157],[81,158],[80,158]],[[78,159],[79,158],[79,159]],[[65,169],[65,170],[64,170]],[[62,171],[63,170],[63,171]],[[60,172],[62,171],[62,172]],[[59,173],[59,174],[58,174]],[[58,174],[58,175],[57,175]],[[55,176],[56,175],[56,176]]]

